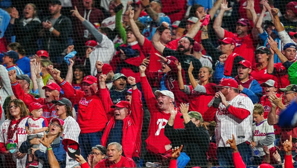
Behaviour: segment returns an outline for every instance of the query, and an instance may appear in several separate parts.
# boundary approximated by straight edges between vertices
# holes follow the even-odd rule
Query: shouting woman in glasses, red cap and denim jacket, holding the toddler
[[[62,134],[64,131],[63,125],[64,121],[62,119],[52,119],[49,126],[49,132],[46,134],[46,137],[51,144],[50,147],[40,144],[40,141],[38,141],[36,138],[30,141],[31,144],[40,144],[39,148],[32,148],[32,153],[34,153],[34,155],[39,159],[39,163],[31,163],[32,166],[34,165],[36,167],[38,165],[42,165],[43,168],[50,168],[47,151],[52,150],[56,159],[58,160],[60,168],[66,167],[66,151],[62,145]],[[20,147],[20,152],[26,152],[29,147],[29,142],[24,141]]]

